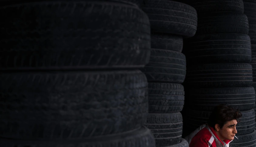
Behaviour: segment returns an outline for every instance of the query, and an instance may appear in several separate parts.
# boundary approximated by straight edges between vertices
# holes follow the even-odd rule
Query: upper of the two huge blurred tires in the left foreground
[[[131,3],[32,2],[0,13],[2,70],[141,68],[149,61],[150,22]]]

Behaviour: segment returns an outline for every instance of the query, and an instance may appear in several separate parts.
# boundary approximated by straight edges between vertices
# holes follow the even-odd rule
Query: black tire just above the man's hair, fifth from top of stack
[[[214,107],[227,103],[240,111],[251,110],[255,105],[253,87],[189,89],[190,108],[213,111]]]

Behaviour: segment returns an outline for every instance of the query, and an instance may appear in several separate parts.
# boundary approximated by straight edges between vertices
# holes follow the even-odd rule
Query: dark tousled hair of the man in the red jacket
[[[238,109],[234,109],[228,104],[217,105],[212,111],[207,124],[215,129],[215,124],[219,124],[220,128],[224,126],[225,123],[231,120],[237,120],[242,117],[242,113]]]

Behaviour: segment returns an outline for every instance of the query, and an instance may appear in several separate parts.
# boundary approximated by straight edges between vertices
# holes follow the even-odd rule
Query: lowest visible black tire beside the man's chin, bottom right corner
[[[246,135],[236,135],[238,139],[230,142],[230,147],[255,147],[256,146],[256,130]]]

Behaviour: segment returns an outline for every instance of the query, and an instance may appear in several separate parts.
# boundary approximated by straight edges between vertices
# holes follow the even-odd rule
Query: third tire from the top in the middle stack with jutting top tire
[[[180,52],[152,48],[150,62],[141,71],[148,82],[180,84],[186,75],[186,57]]]

